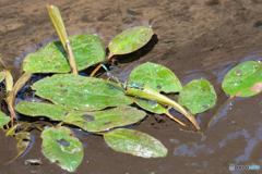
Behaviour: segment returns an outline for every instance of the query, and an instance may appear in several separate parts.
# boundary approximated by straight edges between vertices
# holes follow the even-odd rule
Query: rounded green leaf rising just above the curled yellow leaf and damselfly
[[[155,91],[178,92],[182,86],[176,75],[167,67],[155,63],[143,63],[135,67],[129,77],[129,85],[146,84]]]

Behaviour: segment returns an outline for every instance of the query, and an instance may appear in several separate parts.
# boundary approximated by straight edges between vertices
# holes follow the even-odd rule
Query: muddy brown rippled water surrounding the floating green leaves
[[[117,59],[118,67],[152,61],[170,69],[183,85],[204,77],[217,92],[216,105],[195,115],[203,136],[176,112],[187,127],[152,113],[131,127],[159,139],[168,149],[166,158],[143,159],[116,152],[103,137],[78,130],[84,144],[84,159],[75,173],[262,173],[229,171],[229,164],[262,166],[261,94],[235,98],[206,128],[228,99],[221,87],[226,72],[241,61],[262,60],[261,0],[1,0],[0,52],[15,79],[21,75],[24,50],[56,36],[46,4],[59,7],[69,33],[97,32],[105,47],[130,26],[152,25],[157,36],[154,46],[146,53],[133,53],[135,59]],[[177,99],[175,95],[168,97]],[[1,100],[1,110],[7,111],[5,107]],[[26,153],[7,165],[2,164],[16,156],[15,140],[2,132],[0,139],[1,174],[69,173],[41,154],[40,133],[36,129],[32,130],[32,146]],[[43,164],[26,165],[27,159],[40,159]]]

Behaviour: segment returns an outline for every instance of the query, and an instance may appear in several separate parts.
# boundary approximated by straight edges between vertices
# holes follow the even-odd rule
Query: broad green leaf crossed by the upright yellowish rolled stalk
[[[102,62],[106,59],[105,49],[99,37],[83,34],[69,37],[78,71]],[[67,51],[60,40],[44,49],[28,54],[23,63],[24,71],[32,73],[68,73],[71,71]]]

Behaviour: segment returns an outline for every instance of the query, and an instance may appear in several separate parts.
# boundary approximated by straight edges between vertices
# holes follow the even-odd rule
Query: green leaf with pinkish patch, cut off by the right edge
[[[262,63],[248,61],[230,70],[223,83],[223,90],[230,96],[250,97],[262,90]]]

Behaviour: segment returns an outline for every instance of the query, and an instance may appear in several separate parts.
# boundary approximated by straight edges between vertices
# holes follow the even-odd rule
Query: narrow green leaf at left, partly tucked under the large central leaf
[[[19,113],[29,116],[47,116],[53,121],[63,121],[66,115],[73,111],[61,105],[44,102],[22,101],[14,108]]]

